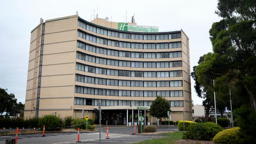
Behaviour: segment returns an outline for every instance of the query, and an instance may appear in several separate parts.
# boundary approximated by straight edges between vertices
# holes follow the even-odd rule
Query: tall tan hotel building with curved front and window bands
[[[153,28],[78,15],[41,21],[31,32],[24,116],[97,120],[101,100],[103,124],[137,122],[139,111],[155,123],[148,110],[162,96],[171,120],[183,111],[192,118],[189,39],[182,30]]]

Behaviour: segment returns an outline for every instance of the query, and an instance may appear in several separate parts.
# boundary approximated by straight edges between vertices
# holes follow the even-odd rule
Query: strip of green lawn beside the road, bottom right
[[[183,132],[174,132],[174,133],[163,133],[161,135],[170,135],[169,137],[155,138],[152,140],[144,140],[134,144],[174,144],[175,140],[182,139]]]

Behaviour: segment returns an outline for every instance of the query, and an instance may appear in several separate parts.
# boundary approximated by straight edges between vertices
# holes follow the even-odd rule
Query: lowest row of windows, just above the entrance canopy
[[[74,98],[75,105],[95,105],[98,106],[98,99]],[[183,107],[183,101],[170,101],[171,107]],[[101,106],[148,106],[152,101],[130,101],[130,100],[101,100]]]

